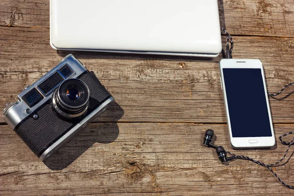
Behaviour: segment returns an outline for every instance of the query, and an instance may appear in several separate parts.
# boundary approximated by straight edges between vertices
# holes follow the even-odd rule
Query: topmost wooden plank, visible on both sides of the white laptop
[[[49,28],[49,0],[1,0],[0,25]],[[292,0],[220,0],[221,26],[231,34],[294,37]]]

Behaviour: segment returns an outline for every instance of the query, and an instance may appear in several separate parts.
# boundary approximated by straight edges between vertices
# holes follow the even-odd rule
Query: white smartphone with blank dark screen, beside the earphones
[[[262,62],[259,59],[221,59],[220,70],[231,146],[274,146]]]

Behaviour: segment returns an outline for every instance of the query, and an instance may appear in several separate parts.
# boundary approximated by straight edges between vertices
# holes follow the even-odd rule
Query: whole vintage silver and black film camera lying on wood
[[[114,101],[72,54],[7,104],[5,122],[44,161]]]

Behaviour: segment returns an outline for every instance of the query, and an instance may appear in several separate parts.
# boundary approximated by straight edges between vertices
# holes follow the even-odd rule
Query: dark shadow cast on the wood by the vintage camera
[[[120,133],[116,122],[123,117],[123,114],[123,108],[117,102],[113,102],[95,121],[49,156],[44,164],[53,171],[63,170],[95,143],[109,144],[114,142]]]

